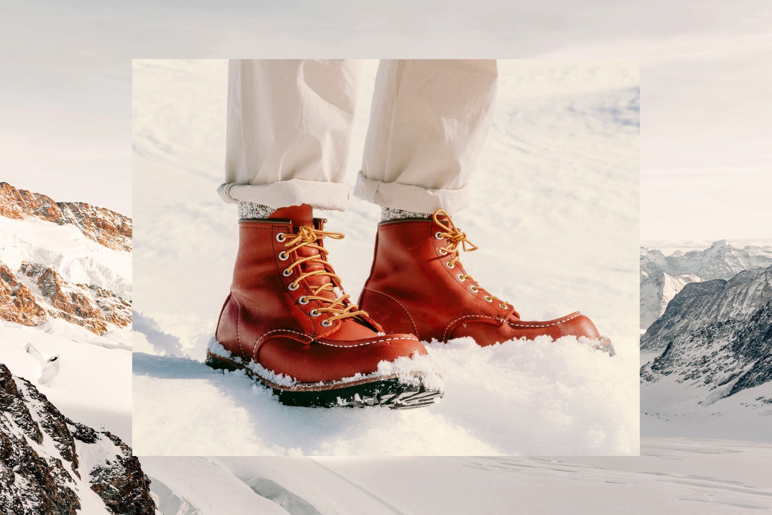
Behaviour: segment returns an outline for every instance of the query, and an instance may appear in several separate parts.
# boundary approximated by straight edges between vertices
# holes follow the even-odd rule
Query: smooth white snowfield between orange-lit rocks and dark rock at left
[[[79,340],[81,331],[87,337]],[[48,320],[38,327],[4,321],[0,363],[31,381],[67,417],[97,429],[103,423],[131,445],[129,337],[129,329],[97,337],[63,320]],[[53,356],[58,356],[55,367],[46,364]]]

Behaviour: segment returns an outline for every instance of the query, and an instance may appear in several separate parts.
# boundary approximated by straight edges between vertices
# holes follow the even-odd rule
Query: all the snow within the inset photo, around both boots
[[[347,174],[361,163],[364,65]],[[630,61],[501,61],[493,127],[454,217],[466,269],[528,320],[581,310],[617,356],[576,341],[429,345],[445,398],[410,412],[287,408],[205,368],[237,245],[222,182],[227,64],[134,62],[134,445],[140,454],[636,454],[638,70]],[[379,208],[320,212],[357,296]],[[506,276],[501,276],[502,269]],[[177,356],[171,357],[172,355]],[[180,438],[185,435],[185,438]]]

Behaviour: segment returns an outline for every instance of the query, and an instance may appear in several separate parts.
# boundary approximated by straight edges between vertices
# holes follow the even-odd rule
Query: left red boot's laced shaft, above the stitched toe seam
[[[322,263],[325,256],[320,251],[324,249],[321,238],[337,237],[336,233],[324,232],[320,236],[313,232],[323,231],[324,222],[313,219],[310,205],[278,209],[269,219],[239,221],[239,252],[231,292],[216,331],[217,341],[229,351],[248,357],[255,353],[254,342],[272,331],[303,335],[298,336],[303,341],[324,337],[354,341],[381,331],[381,326],[364,314],[357,315],[356,320],[328,320],[336,313],[325,308],[337,299],[337,292],[342,292],[343,287],[332,267]],[[315,238],[297,241],[320,249],[293,244],[299,235]],[[312,256],[318,259],[300,263]],[[324,273],[313,274],[320,270]],[[327,286],[330,283],[334,283],[334,290]],[[322,286],[327,287],[321,289]],[[306,297],[323,297],[329,302]],[[337,307],[349,304],[349,300],[343,300]]]

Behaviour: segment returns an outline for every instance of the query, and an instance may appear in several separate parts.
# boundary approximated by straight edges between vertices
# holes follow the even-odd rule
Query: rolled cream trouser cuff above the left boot
[[[288,205],[309,204],[314,208],[344,211],[349,190],[338,182],[289,181],[267,185],[225,184],[217,188],[222,200],[229,203],[253,202],[278,209]]]

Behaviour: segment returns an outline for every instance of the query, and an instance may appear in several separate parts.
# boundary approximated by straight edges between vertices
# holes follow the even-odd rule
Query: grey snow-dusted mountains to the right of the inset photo
[[[671,273],[694,278],[641,337],[643,435],[772,441],[770,255],[723,241],[667,258],[642,249],[642,327],[679,286]]]

